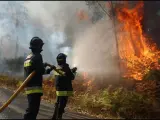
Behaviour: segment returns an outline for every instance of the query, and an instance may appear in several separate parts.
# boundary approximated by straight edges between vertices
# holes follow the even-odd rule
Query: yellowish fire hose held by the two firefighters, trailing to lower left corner
[[[62,72],[60,72],[59,70],[56,69],[56,67],[54,65],[50,65],[47,64],[49,67],[53,68],[57,73],[64,75]],[[26,84],[31,80],[31,78],[36,74],[35,71],[33,71],[26,79],[25,81],[22,83],[22,85],[14,92],[14,94],[8,99],[8,101],[6,101],[3,106],[0,108],[0,113],[3,112],[3,110],[5,108],[8,107],[8,105],[14,100],[14,98],[17,97],[17,95],[24,89],[24,87],[26,86]]]

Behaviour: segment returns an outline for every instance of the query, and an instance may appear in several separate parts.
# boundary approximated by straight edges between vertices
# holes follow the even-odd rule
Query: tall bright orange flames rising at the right
[[[119,55],[123,67],[126,67],[124,77],[141,80],[150,69],[159,69],[156,44],[145,37],[142,31],[143,2],[134,8],[128,6],[117,8],[117,19],[121,24],[118,33]]]

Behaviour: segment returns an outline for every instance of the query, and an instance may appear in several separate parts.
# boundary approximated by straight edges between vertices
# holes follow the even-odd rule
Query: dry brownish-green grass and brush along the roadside
[[[18,88],[20,85],[18,79],[4,75],[0,76],[0,82],[1,86],[12,89]],[[98,90],[95,86],[85,85],[84,82],[86,81],[80,80],[80,78],[73,82],[75,94],[74,97],[70,97],[69,106],[74,111],[99,118],[155,117],[153,97],[149,97],[150,94],[142,94],[142,90],[141,92],[136,92],[124,87],[113,88],[112,86]],[[44,80],[43,88],[43,99],[48,102],[54,102],[54,79]],[[143,88],[141,87],[141,89]]]

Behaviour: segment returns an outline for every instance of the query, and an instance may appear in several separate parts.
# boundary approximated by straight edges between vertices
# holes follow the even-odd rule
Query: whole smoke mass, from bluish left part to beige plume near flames
[[[16,51],[26,55],[30,39],[38,36],[45,42],[44,62],[56,64],[56,56],[64,52],[69,64],[81,72],[117,73],[112,22],[80,21],[80,10],[90,15],[85,1],[1,1],[0,9],[1,59],[15,57]]]

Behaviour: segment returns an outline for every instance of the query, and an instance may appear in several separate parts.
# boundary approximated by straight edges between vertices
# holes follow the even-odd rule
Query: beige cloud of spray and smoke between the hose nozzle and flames
[[[73,64],[95,76],[118,75],[117,48],[113,23],[108,18],[97,22],[77,37]]]

